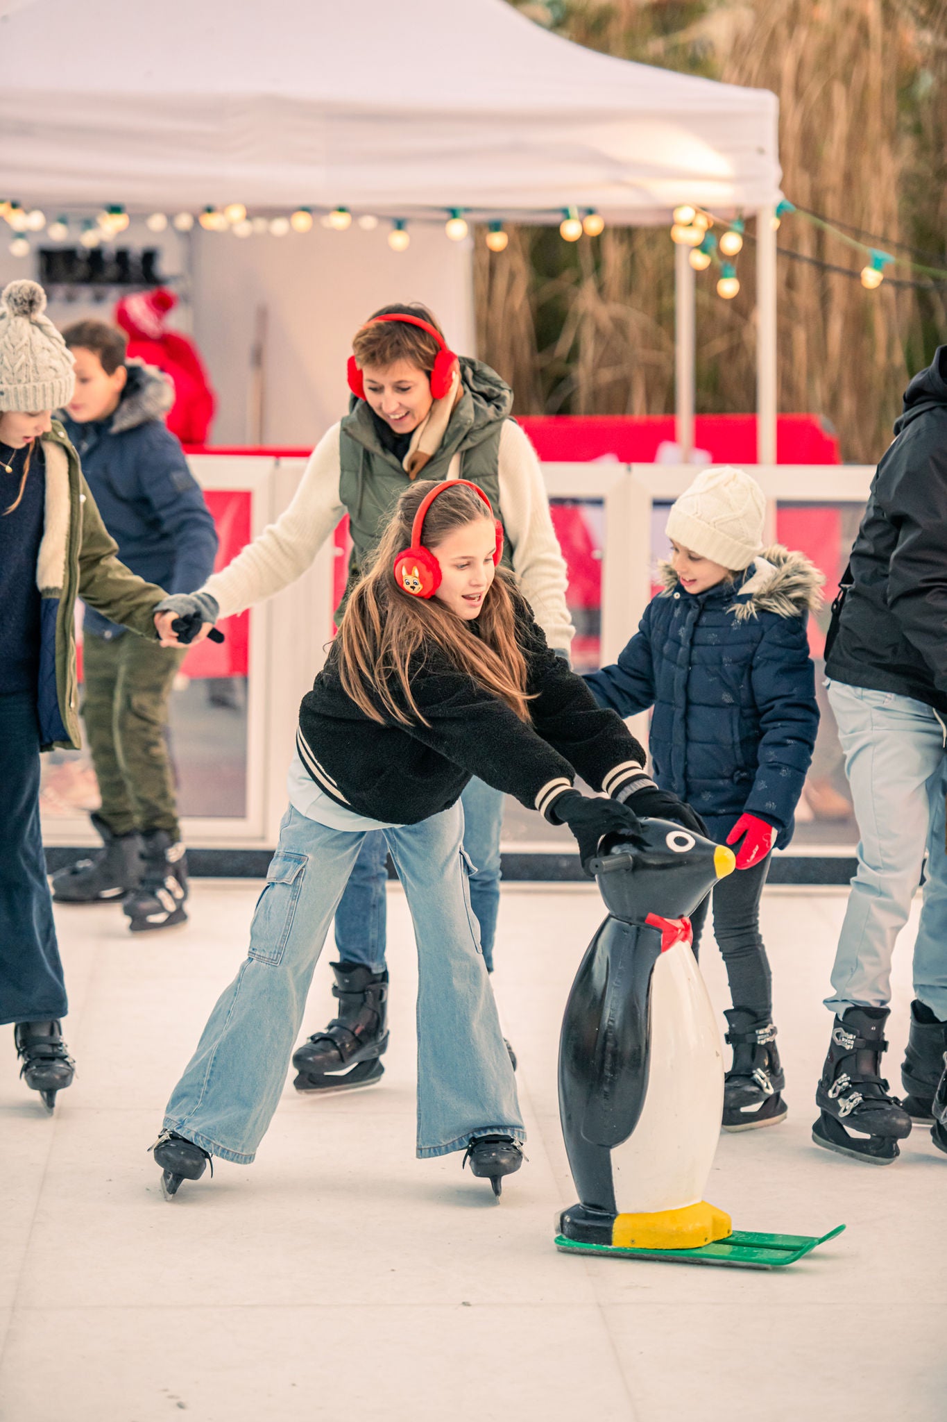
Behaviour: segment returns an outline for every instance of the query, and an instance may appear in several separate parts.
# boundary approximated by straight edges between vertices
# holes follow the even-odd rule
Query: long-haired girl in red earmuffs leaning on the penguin
[[[415,483],[349,594],[300,708],[290,809],[250,930],[155,1145],[163,1185],[247,1165],[275,1111],[310,981],[365,835],[381,830],[417,943],[417,1155],[464,1152],[494,1192],[522,1160],[513,1065],[470,909],[460,796],[477,775],[569,826],[584,866],[635,801],[694,829],[645,752],[548,647],[467,481]],[[576,772],[609,798],[574,789]],[[660,798],[660,808],[653,796]]]

